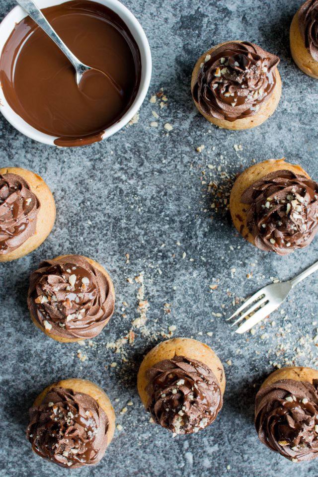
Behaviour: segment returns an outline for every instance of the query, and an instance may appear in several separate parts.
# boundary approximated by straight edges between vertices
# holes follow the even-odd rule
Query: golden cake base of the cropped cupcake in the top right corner
[[[318,79],[318,61],[314,60],[305,46],[304,38],[299,29],[298,12],[290,26],[290,50],[298,68],[306,75]]]

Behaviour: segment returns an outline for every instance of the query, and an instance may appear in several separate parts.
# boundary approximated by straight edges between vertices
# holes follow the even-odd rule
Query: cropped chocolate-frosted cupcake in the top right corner
[[[318,79],[318,0],[307,0],[290,27],[292,57],[306,75]]]

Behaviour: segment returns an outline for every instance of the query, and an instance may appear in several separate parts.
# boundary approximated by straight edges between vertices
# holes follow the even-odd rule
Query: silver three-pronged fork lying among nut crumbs
[[[242,319],[255,312],[254,315],[248,318],[236,330],[236,332],[239,334],[248,331],[253,326],[255,326],[255,324],[257,324],[259,321],[266,318],[274,310],[276,310],[287,298],[287,295],[292,290],[292,288],[295,287],[295,285],[298,285],[298,283],[304,280],[304,278],[307,278],[309,275],[316,272],[317,270],[318,262],[307,268],[307,270],[295,277],[293,280],[267,285],[266,287],[255,293],[252,297],[250,297],[245,303],[243,303],[243,305],[239,307],[239,309],[232,315],[232,317],[228,318],[228,320],[233,319],[237,317],[240,313],[242,313],[242,315],[232,324],[232,326],[234,326]]]

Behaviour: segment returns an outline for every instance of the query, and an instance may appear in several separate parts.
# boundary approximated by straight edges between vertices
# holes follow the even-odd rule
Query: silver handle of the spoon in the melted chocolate
[[[79,59],[73,55],[72,51],[65,45],[61,40],[56,31],[52,28],[50,23],[47,21],[40,8],[34,3],[33,0],[16,0],[16,2],[25,10],[28,15],[32,18],[45,31],[47,35],[57,44],[57,46],[63,51],[65,56],[68,57],[76,71],[79,71],[80,66],[82,65]]]

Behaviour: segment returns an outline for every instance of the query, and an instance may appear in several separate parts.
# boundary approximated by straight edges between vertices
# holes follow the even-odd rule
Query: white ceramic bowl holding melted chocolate
[[[105,133],[103,134],[102,138],[104,140],[122,129],[135,116],[140,106],[142,105],[150,84],[152,59],[146,34],[141,24],[132,14],[132,12],[128,10],[128,8],[118,0],[94,1],[107,6],[120,16],[120,18],[126,23],[131,34],[135,38],[141,55],[141,81],[136,98],[133,104],[128,109],[128,111],[120,118],[120,120],[105,130]],[[40,8],[46,8],[48,6],[54,6],[64,3],[64,0],[37,0],[36,3]],[[2,53],[3,46],[6,43],[8,37],[10,36],[15,24],[23,20],[23,18],[25,18],[26,16],[27,13],[20,6],[16,6],[2,20],[2,22],[0,23],[0,55]],[[3,116],[9,121],[9,123],[11,123],[12,126],[15,127],[15,129],[25,134],[25,136],[28,136],[35,141],[39,141],[40,143],[55,146],[54,140],[57,138],[38,131],[37,129],[30,126],[26,121],[24,121],[24,119],[22,119],[18,114],[16,114],[7,103],[3,90],[1,88],[0,111]],[[92,140],[92,143],[93,142],[94,141]]]

